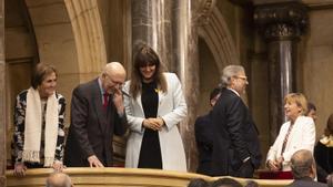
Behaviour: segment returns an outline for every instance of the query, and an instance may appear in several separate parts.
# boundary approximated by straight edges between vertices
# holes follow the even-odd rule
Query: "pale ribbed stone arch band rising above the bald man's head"
[[[64,3],[77,44],[79,71],[98,74],[107,64],[107,51],[97,0],[64,0]]]

